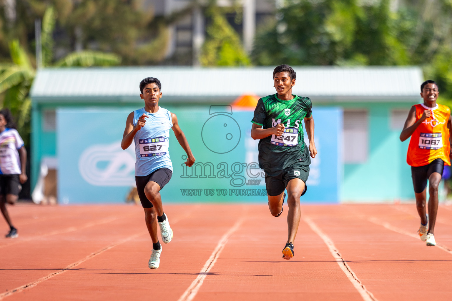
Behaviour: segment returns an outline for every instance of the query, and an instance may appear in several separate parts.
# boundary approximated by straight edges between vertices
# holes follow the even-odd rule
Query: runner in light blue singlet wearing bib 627
[[[152,253],[148,266],[157,269],[160,266],[160,245],[157,224],[160,227],[162,241],[167,244],[173,239],[173,230],[163,211],[160,190],[168,184],[173,175],[170,160],[170,129],[180,146],[187,153],[185,164],[191,167],[195,157],[190,150],[184,132],[180,129],[177,116],[159,106],[162,97],[160,81],[153,77],[140,83],[140,97],[144,108],[133,111],[127,116],[126,129],[122,135],[121,148],[128,148],[135,142],[135,183],[137,193],[145,212],[147,230],[152,240]]]

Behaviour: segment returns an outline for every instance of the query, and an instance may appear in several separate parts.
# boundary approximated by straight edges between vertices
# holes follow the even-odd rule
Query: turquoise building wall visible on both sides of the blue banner
[[[391,110],[409,108],[414,102],[318,102],[314,106],[342,107],[344,110],[367,110],[368,155],[359,164],[344,164],[341,187],[342,202],[381,202],[414,199],[410,167],[406,163],[408,140],[400,142],[400,130],[390,126]],[[43,111],[58,107],[141,107],[141,102],[127,103],[33,103],[31,184],[36,185],[42,157],[56,157],[56,132],[42,129]],[[164,107],[183,107],[167,103]],[[193,104],[190,104],[193,106]],[[315,110],[315,108],[314,108]],[[314,116],[315,118],[315,116]],[[125,120],[121,120],[125,123]]]

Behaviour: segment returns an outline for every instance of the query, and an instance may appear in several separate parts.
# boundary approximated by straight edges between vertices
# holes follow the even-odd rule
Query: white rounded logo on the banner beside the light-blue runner
[[[83,179],[91,185],[133,186],[135,160],[134,148],[123,150],[121,141],[94,144],[80,155],[79,171]]]

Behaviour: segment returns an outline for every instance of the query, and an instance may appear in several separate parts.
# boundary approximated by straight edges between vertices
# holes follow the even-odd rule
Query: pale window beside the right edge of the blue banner
[[[367,111],[344,111],[344,163],[362,163],[367,160]]]

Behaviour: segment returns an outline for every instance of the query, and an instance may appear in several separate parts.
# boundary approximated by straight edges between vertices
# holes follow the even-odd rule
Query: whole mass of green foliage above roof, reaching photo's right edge
[[[420,65],[452,104],[451,1],[283,3],[256,36],[256,65]]]

